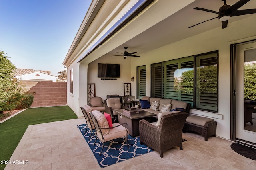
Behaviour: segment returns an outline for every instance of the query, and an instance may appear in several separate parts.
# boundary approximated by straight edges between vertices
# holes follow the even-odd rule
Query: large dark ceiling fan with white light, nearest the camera
[[[212,12],[215,14],[219,14],[218,17],[215,18],[219,18],[219,20],[222,23],[222,29],[228,27],[228,19],[232,16],[241,16],[241,15],[246,15],[246,14],[255,14],[256,13],[256,9],[247,9],[247,10],[238,10],[241,6],[243,6],[244,4],[246,4],[247,2],[249,2],[250,0],[239,0],[238,2],[236,2],[234,5],[230,6],[226,4],[226,0],[222,0],[224,1],[224,5],[220,7],[219,12],[216,11],[212,11],[212,10],[208,10],[208,9],[204,9],[204,8],[199,8],[196,7],[194,8],[195,10],[201,10],[201,11],[206,11],[206,12]],[[210,20],[213,20],[215,18],[212,18]],[[210,20],[206,20],[206,21],[210,21]],[[203,21],[201,23],[204,23],[206,21]],[[196,25],[199,25],[201,23],[198,23]],[[189,28],[192,28],[196,25],[193,25]]]

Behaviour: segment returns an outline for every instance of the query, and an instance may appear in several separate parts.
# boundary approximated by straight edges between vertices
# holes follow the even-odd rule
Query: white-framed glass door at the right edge
[[[256,43],[237,46],[236,139],[256,143]]]

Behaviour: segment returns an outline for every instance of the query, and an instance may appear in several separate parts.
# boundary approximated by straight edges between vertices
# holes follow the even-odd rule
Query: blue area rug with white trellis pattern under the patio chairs
[[[77,126],[91,148],[101,168],[154,151],[144,144],[140,145],[140,137],[132,137],[128,135],[128,144],[130,146],[129,149],[125,143],[126,137],[123,137],[105,142],[102,154],[99,155],[102,148],[102,142],[97,139],[95,145],[93,145],[96,139],[94,133],[92,133],[92,137],[89,139],[91,131],[87,129],[86,133],[84,133],[86,124]]]

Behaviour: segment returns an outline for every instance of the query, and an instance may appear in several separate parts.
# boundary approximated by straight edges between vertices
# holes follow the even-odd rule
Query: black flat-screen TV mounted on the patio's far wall
[[[120,77],[120,64],[98,63],[98,77]]]

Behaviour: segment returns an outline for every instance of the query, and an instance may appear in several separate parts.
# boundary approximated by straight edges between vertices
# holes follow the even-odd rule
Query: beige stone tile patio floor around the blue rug
[[[84,118],[30,125],[14,151],[5,170],[100,170],[82,133],[76,125]],[[164,152],[150,152],[104,170],[256,170],[256,161],[240,156],[230,148],[232,141],[183,133],[183,150],[174,147]],[[23,162],[22,162],[23,160]],[[26,164],[26,160],[27,163]]]

